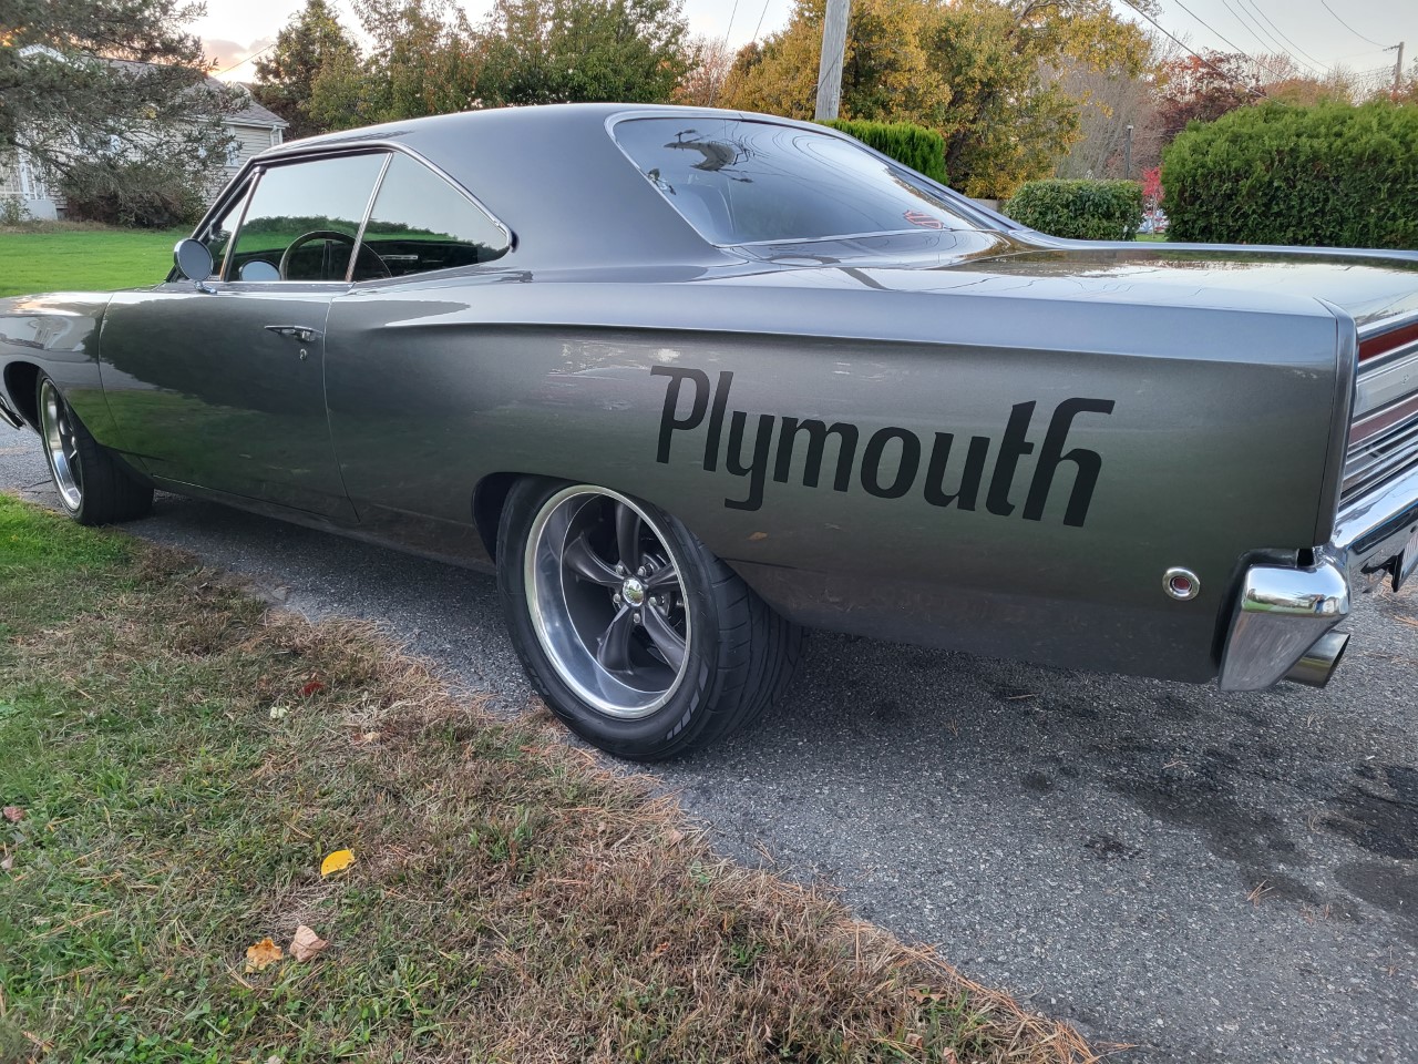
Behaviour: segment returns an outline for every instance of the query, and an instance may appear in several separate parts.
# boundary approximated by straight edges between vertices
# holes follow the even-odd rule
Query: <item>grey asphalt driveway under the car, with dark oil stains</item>
[[[0,488],[54,502],[33,434]],[[132,531],[525,704],[485,576],[169,495]],[[657,775],[1123,1060],[1418,1061],[1418,590],[1347,628],[1329,688],[1255,695],[818,634],[778,712]]]

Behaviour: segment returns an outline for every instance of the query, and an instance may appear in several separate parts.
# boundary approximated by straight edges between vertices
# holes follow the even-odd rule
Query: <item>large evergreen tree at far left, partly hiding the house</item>
[[[200,9],[182,0],[7,0],[0,9],[0,153],[64,179],[75,166],[208,177],[241,95],[207,78]]]

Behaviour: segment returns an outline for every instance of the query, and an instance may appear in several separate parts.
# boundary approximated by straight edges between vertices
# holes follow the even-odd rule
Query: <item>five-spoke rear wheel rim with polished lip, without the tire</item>
[[[525,593],[552,667],[590,706],[634,719],[685,675],[691,611],[669,536],[635,502],[579,485],[532,522]]]

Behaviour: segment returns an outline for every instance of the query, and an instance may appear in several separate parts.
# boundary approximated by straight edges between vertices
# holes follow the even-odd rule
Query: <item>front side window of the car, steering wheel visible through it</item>
[[[386,157],[350,155],[265,170],[227,279],[343,281]]]

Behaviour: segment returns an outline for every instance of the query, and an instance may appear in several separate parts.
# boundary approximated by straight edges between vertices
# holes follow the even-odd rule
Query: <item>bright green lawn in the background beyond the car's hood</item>
[[[190,230],[45,227],[0,231],[0,297],[138,288],[162,281]]]

